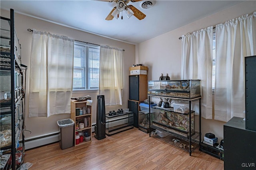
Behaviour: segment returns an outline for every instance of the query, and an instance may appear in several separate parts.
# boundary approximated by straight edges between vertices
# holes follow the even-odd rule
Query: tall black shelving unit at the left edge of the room
[[[21,64],[21,46],[14,29],[14,10],[10,9],[10,19],[1,17],[0,25],[1,169],[15,170],[22,165],[25,155],[22,131],[27,66]]]

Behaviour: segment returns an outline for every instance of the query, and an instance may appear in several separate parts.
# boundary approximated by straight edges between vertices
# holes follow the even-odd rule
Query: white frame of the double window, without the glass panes
[[[86,43],[86,42],[82,42],[82,41],[77,41],[75,40],[74,41],[74,46],[75,45],[81,45],[81,46],[84,46],[84,61],[85,61],[85,66],[84,68],[81,67],[82,69],[84,69],[84,83],[85,83],[85,88],[72,88],[72,91],[73,93],[81,93],[81,92],[98,92],[99,90],[99,86],[98,88],[89,88],[90,86],[90,68],[89,68],[89,48],[92,47],[92,48],[96,48],[96,49],[99,49],[99,62],[100,62],[100,45],[95,45],[95,44],[91,44],[91,43]],[[75,48],[74,48],[75,49]],[[74,65],[73,65],[74,66]],[[75,66],[74,66],[75,68]],[[79,69],[79,68],[77,68]],[[99,68],[100,69],[100,68]],[[100,73],[100,72],[99,72]],[[73,74],[74,74],[74,70],[73,70]],[[73,76],[73,83],[74,83],[74,76]]]

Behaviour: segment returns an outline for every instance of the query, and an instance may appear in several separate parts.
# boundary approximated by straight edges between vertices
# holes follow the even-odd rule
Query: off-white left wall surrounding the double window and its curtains
[[[15,12],[15,10],[14,10]],[[10,18],[10,12],[1,10],[1,16]],[[66,35],[68,37],[74,38],[78,41],[84,41],[88,43],[94,43],[98,45],[109,45],[111,47],[118,47],[125,49],[124,51],[124,98],[123,106],[109,106],[106,107],[106,112],[109,110],[117,110],[119,108],[128,107],[128,75],[129,67],[135,62],[135,45],[124,43],[121,41],[116,41],[113,39],[100,37],[98,35],[93,35],[83,31],[78,31],[76,29],[64,27],[54,23],[50,23],[43,20],[38,20],[21,14],[14,14],[14,25],[18,38],[20,39],[22,47],[22,64],[28,66],[27,72],[27,89],[26,89],[26,129],[31,130],[32,133],[25,133],[25,139],[30,139],[33,137],[40,137],[41,135],[50,134],[58,131],[57,121],[61,119],[70,118],[70,114],[60,114],[52,115],[50,117],[28,117],[28,96],[29,96],[29,74],[30,74],[30,52],[31,52],[31,40],[32,32],[28,32],[27,29],[36,29],[38,31],[47,31],[54,34]],[[92,123],[96,123],[96,98],[98,92],[94,93],[74,93],[73,97],[90,95],[93,100],[92,107]]]

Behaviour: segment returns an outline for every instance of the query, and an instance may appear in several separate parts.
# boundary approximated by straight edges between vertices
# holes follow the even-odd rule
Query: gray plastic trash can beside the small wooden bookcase
[[[60,148],[72,147],[74,145],[74,121],[72,119],[63,119],[58,120],[57,124],[60,127]]]

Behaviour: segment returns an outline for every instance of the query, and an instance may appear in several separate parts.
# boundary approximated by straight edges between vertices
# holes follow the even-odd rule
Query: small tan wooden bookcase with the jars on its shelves
[[[83,107],[84,109],[86,107],[86,113]],[[82,114],[80,113],[80,109],[82,109]],[[79,111],[79,114],[76,111]],[[87,101],[77,102],[76,100],[72,100],[71,119],[75,122],[74,145],[78,146],[92,141],[92,106],[88,106]],[[77,139],[77,135],[79,135],[79,140]],[[86,135],[90,137],[86,137]]]

